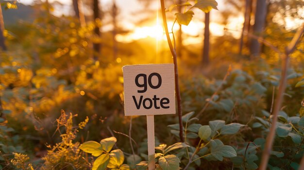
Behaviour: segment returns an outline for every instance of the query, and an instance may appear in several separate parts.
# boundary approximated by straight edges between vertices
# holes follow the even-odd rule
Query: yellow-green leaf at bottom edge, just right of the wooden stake
[[[159,166],[163,170],[179,170],[180,159],[175,155],[166,155],[158,159]]]

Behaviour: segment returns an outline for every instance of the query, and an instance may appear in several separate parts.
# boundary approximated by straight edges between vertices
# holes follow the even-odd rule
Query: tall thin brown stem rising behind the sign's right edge
[[[181,142],[184,142],[183,122],[182,122],[182,102],[181,102],[181,92],[180,92],[180,87],[179,87],[179,82],[178,82],[177,55],[172,46],[172,42],[171,42],[169,31],[168,31],[164,0],[160,0],[160,5],[161,5],[161,10],[162,10],[163,25],[164,25],[164,28],[166,31],[167,41],[168,41],[168,45],[169,45],[169,48],[170,48],[170,51],[171,51],[171,54],[173,57],[173,63],[174,63],[175,91],[176,91],[176,98],[177,98],[178,120],[179,120],[179,127],[180,127],[179,136],[180,136]]]

